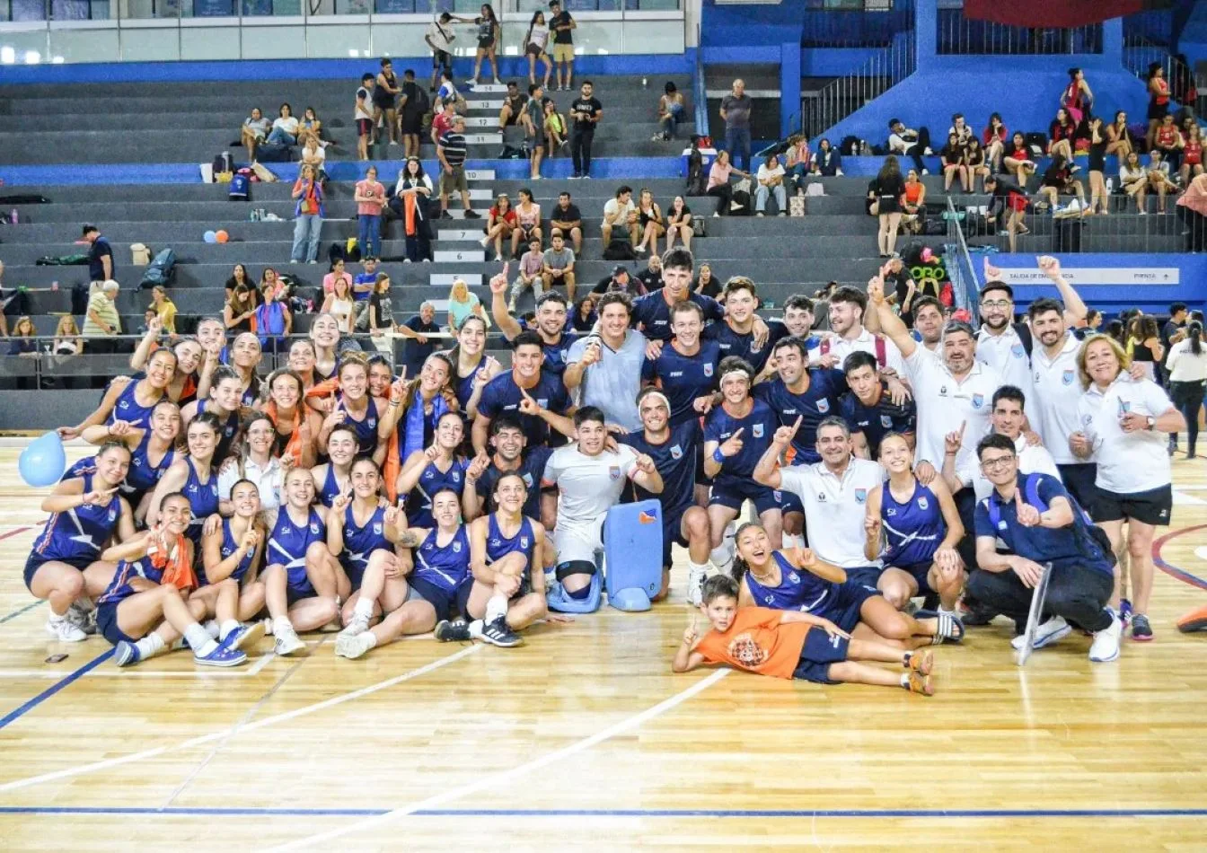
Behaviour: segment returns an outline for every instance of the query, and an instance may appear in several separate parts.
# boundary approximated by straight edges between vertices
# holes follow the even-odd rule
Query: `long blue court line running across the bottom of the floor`
[[[0,814],[138,814],[194,817],[377,817],[390,808],[164,808],[138,806],[0,806]],[[416,817],[511,818],[1205,818],[1207,808],[424,808]]]

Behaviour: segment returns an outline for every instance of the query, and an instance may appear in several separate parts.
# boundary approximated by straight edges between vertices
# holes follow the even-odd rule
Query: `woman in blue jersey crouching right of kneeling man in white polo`
[[[956,551],[964,526],[955,498],[941,477],[926,486],[917,481],[914,452],[902,436],[884,437],[880,463],[888,480],[868,495],[864,544],[869,560],[882,556],[890,567],[876,586],[894,607],[904,607],[916,595],[938,596],[940,614],[955,614],[968,579]]]

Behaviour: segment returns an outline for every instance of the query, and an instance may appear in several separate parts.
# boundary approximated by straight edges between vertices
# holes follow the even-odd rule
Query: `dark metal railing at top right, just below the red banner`
[[[1102,53],[1102,24],[1073,29],[1009,27],[966,18],[961,4],[960,8],[939,8],[935,52],[975,55]]]

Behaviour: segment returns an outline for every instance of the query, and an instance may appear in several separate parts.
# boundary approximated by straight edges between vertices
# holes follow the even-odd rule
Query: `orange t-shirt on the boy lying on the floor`
[[[783,623],[783,610],[740,607],[734,624],[721,633],[710,630],[695,647],[710,664],[728,664],[774,678],[792,678],[805,648],[807,623]]]

